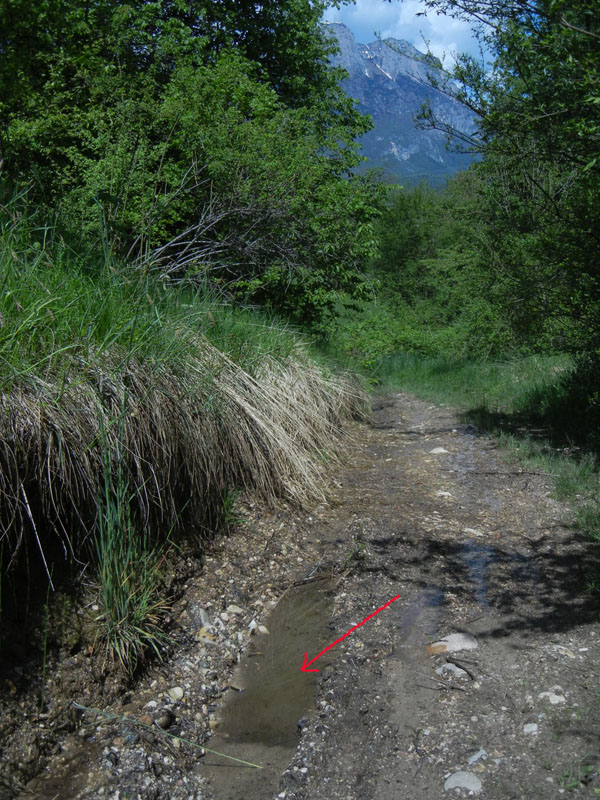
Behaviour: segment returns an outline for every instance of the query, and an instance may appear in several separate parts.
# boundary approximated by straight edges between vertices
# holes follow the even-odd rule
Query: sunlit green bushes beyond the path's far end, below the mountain
[[[480,187],[472,171],[443,191],[389,190],[370,272],[377,303],[337,322],[343,349],[363,366],[378,373],[381,359],[398,352],[486,359],[548,349],[543,329],[516,331],[502,286],[482,267]]]

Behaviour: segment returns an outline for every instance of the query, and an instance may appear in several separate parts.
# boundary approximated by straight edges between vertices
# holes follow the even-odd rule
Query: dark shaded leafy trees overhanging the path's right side
[[[489,276],[516,335],[600,357],[600,6],[427,0],[479,24],[489,64],[455,77],[479,117],[477,205]],[[438,124],[431,120],[433,124]]]

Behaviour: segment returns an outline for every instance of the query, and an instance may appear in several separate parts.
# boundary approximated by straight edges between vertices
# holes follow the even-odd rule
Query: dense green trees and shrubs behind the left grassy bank
[[[5,173],[65,235],[324,318],[363,291],[376,213],[327,5],[2,0]]]

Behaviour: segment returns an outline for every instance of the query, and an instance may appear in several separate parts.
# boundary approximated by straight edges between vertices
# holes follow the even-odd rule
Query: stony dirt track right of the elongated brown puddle
[[[362,559],[334,634],[401,600],[340,647],[278,797],[597,796],[597,547],[450,411],[398,395],[374,426],[340,497]],[[474,649],[428,652],[459,632]]]

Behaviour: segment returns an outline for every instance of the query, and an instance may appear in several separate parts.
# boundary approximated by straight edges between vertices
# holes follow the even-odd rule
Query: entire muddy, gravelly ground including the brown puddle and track
[[[135,686],[62,653],[40,714],[35,664],[5,672],[0,797],[600,795],[600,553],[550,478],[403,394],[334,472],[328,503],[246,505],[190,563],[177,648]]]

